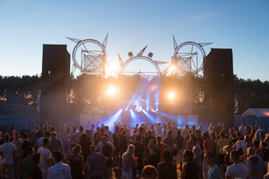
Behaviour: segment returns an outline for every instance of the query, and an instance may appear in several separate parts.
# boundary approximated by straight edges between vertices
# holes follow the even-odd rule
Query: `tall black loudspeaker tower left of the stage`
[[[57,126],[68,117],[70,55],[66,45],[43,45],[40,122]]]

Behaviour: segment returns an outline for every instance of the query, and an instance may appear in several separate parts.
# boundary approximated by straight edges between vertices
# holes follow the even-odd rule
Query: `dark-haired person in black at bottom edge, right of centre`
[[[194,154],[187,149],[183,153],[185,165],[183,166],[182,179],[198,179],[198,167],[194,162]]]

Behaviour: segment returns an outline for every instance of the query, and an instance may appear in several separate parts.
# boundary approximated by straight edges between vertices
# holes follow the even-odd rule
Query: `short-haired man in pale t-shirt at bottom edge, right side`
[[[232,150],[230,152],[230,160],[233,165],[228,166],[225,179],[242,178],[247,179],[248,171],[247,166],[239,163],[240,153],[238,150]]]

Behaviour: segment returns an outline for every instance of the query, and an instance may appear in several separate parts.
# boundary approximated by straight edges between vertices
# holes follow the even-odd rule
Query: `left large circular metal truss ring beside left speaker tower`
[[[87,44],[97,45],[100,50],[91,50],[87,48]],[[77,50],[82,48],[81,51],[81,64],[77,61]],[[79,41],[74,47],[73,63],[76,68],[81,72],[96,72],[100,70],[107,58],[106,47],[95,39],[83,39]],[[85,64],[84,59],[87,59],[89,64]],[[84,61],[84,62],[83,62]],[[83,65],[84,64],[84,65]]]

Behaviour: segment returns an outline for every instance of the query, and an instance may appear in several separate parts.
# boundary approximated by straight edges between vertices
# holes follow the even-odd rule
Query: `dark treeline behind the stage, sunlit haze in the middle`
[[[36,105],[39,92],[41,90],[41,78],[35,76],[1,76],[0,75],[0,103],[7,104],[25,104]],[[205,88],[205,81],[203,79],[193,80],[192,88],[201,93]],[[87,103],[93,104],[102,100],[103,93],[106,92],[109,86],[120,86],[120,98],[113,99],[111,103],[117,103],[120,100],[132,98],[132,95],[137,92],[137,89],[143,89],[145,86],[150,86],[151,90],[155,90],[160,85],[160,100],[164,100],[164,94],[168,89],[176,88],[184,89],[187,84],[186,79],[175,79],[171,77],[162,78],[160,81],[150,83],[142,79],[140,76],[119,78],[108,77],[103,79],[95,75],[82,75],[77,78],[71,78],[69,85],[69,100],[72,104],[81,103],[81,98],[87,99]],[[193,91],[195,91],[193,90]],[[200,91],[200,92],[199,92]],[[244,80],[234,75],[234,92],[239,100],[239,112],[244,113],[250,107],[269,108],[269,81],[259,80]],[[199,99],[200,96],[194,96],[196,104],[203,101]]]

